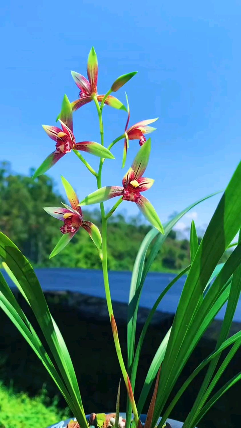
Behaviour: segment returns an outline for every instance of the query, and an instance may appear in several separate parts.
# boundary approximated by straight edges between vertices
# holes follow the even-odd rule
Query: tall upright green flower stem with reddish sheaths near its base
[[[103,121],[102,121],[102,110],[101,110],[101,107],[100,107],[100,105],[98,103],[98,99],[97,99],[96,95],[94,95],[93,100],[95,101],[96,109],[97,109],[97,112],[98,112],[99,125],[100,125],[100,134],[101,134],[101,145],[104,146],[104,127],[103,127]],[[125,135],[124,136],[121,135],[120,137],[116,138],[116,140],[114,140],[110,144],[110,147],[113,147],[113,145],[115,143],[117,143],[117,141],[121,140],[124,137],[125,137]],[[98,189],[101,188],[101,172],[102,172],[103,163],[104,163],[104,158],[101,158],[100,159],[100,164],[99,164],[98,175],[96,177]],[[123,378],[125,380],[125,384],[126,384],[126,387],[127,387],[128,396],[129,396],[129,399],[131,401],[131,407],[133,409],[134,419],[135,419],[136,425],[138,425],[139,416],[138,416],[138,413],[137,413],[137,406],[136,406],[136,403],[135,403],[135,400],[134,400],[134,396],[133,396],[133,392],[132,392],[132,389],[131,389],[131,382],[129,380],[128,373],[127,373],[127,371],[125,369],[125,363],[124,363],[124,360],[123,360],[123,357],[122,357],[122,351],[121,351],[120,344],[119,344],[119,339],[118,339],[117,327],[116,327],[116,323],[114,321],[113,307],[112,307],[112,301],[111,301],[111,295],[110,295],[108,266],[107,266],[107,219],[115,211],[115,209],[117,208],[117,206],[121,202],[122,202],[122,198],[120,198],[119,201],[116,202],[116,204],[113,206],[114,209],[112,208],[109,211],[109,213],[107,214],[107,216],[105,216],[104,203],[103,202],[100,203],[101,220],[102,220],[102,253],[103,253],[102,270],[103,270],[104,290],[105,290],[107,308],[108,308],[109,317],[110,317],[110,323],[111,323],[112,332],[113,332],[113,339],[114,339],[115,346],[116,346],[116,353],[117,353],[117,357],[118,357],[118,360],[119,360],[120,369],[122,371],[122,376],[123,376]],[[113,329],[113,321],[114,321],[114,324],[115,324],[115,329]],[[116,336],[117,336],[118,340],[116,339]]]

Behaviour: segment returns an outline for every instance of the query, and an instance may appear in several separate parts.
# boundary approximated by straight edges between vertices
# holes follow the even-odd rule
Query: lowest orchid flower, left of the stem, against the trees
[[[60,251],[65,248],[68,242],[73,238],[76,232],[82,227],[89,233],[90,238],[96,245],[98,249],[101,247],[101,233],[95,224],[91,223],[91,221],[84,221],[83,214],[81,211],[79,204],[79,199],[73,189],[73,187],[62,177],[62,184],[65,188],[66,195],[70,202],[70,205],[65,205],[64,208],[58,207],[45,207],[44,210],[50,214],[52,217],[57,218],[58,220],[62,220],[64,224],[60,227],[60,230],[63,236],[60,238],[60,241],[54,247],[49,258],[56,256]]]

